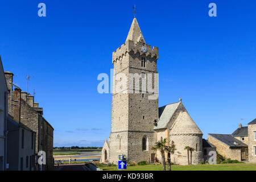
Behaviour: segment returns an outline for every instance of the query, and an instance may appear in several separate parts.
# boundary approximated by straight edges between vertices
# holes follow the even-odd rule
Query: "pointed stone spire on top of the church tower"
[[[131,23],[131,28],[125,42],[127,42],[128,40],[145,43],[141,28],[139,28],[139,24],[136,18],[134,18],[133,23]]]

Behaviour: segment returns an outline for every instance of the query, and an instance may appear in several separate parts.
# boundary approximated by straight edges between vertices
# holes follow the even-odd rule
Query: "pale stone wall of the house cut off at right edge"
[[[248,151],[249,162],[256,162],[256,155],[254,154],[254,147],[256,147],[256,140],[254,140],[254,131],[256,131],[256,124],[248,125]]]

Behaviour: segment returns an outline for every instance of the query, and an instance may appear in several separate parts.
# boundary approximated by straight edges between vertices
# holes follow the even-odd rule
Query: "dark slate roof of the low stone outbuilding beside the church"
[[[248,147],[247,144],[241,142],[240,140],[234,138],[229,134],[209,134],[210,136],[216,138],[217,140],[225,143],[229,147]],[[237,144],[234,144],[236,142]]]

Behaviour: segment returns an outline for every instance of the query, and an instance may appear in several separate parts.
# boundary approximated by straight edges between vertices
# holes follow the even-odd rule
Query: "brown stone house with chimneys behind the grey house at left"
[[[43,165],[43,170],[51,170],[54,165],[53,159],[53,127],[43,117],[43,108],[38,107],[39,104],[34,102],[34,96],[31,96],[27,92],[21,92],[19,90],[19,98],[14,99],[13,92],[13,73],[5,72],[5,78],[8,94],[8,112],[11,117],[15,118],[17,112],[15,112],[14,102],[19,103],[20,107],[20,123],[26,125],[31,130],[35,131],[35,169],[39,170],[38,165],[38,153],[39,151],[46,152],[46,164]]]

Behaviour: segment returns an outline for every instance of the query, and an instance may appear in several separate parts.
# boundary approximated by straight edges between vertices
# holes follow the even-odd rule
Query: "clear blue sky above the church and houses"
[[[97,76],[110,74],[134,4],[146,43],[159,47],[159,106],[183,98],[204,138],[256,118],[255,1],[1,1],[3,67],[23,91],[34,76],[29,92],[55,128],[54,146],[109,137],[112,96],[97,92]]]

